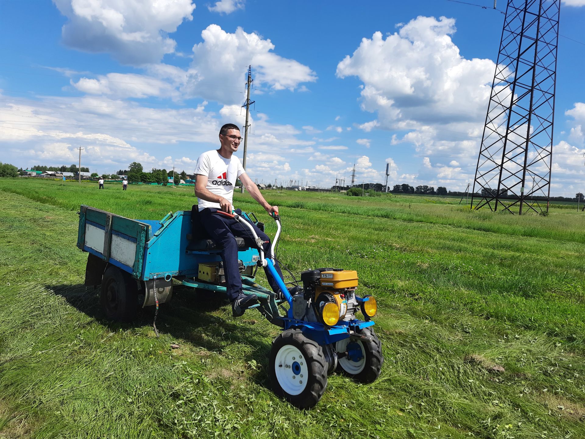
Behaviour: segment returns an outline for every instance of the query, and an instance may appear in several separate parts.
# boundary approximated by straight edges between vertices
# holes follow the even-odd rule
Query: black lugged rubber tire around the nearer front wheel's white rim
[[[278,382],[276,368],[277,354],[281,348],[290,345],[302,352],[307,360],[307,383],[304,390],[298,395],[287,393]],[[274,393],[283,397],[293,406],[300,409],[310,409],[319,402],[327,387],[327,362],[321,346],[305,337],[301,330],[291,328],[281,332],[272,342],[270,349],[270,379]]]

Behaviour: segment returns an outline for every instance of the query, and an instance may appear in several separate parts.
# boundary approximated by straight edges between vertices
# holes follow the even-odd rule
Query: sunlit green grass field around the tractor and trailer
[[[189,289],[161,307],[158,339],[152,310],[104,320],[82,286],[79,205],[159,219],[190,209],[192,188],[0,179],[0,438],[585,437],[585,213],[265,196],[293,273],[355,269],[378,298],[376,382],[332,375],[314,410],[294,409],[266,372],[278,328]],[[251,198],[235,204],[274,233]]]

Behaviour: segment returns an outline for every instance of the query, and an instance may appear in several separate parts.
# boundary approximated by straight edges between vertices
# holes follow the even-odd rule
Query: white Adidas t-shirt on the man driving
[[[243,173],[245,169],[238,157],[233,156],[226,159],[219,155],[217,150],[212,150],[202,153],[197,159],[195,166],[195,174],[207,176],[207,190],[214,195],[219,195],[225,198],[233,205],[233,186],[236,184],[236,179]],[[199,211],[206,207],[219,209],[219,203],[212,203],[197,198]]]

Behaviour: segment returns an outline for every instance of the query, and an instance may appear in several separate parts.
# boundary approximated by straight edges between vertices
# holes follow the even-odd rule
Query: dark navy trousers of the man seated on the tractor
[[[240,215],[242,214],[242,211],[238,209],[236,210],[236,213]],[[246,245],[252,248],[257,248],[252,232],[250,232],[250,229],[245,225],[240,224],[233,218],[218,213],[218,210],[213,208],[205,208],[200,211],[199,219],[212,241],[223,246],[223,251],[221,252],[223,273],[225,274],[225,280],[227,283],[228,298],[233,301],[238,298],[239,293],[242,291],[242,278],[240,277],[240,270],[238,267],[238,244],[236,243],[235,237],[240,236],[240,238],[244,238]],[[245,219],[245,221],[248,220]],[[252,222],[248,222],[252,224]],[[270,241],[268,235],[257,228],[254,224],[252,224],[252,227],[262,241]],[[264,249],[264,256],[270,258],[270,242],[265,242],[262,247]],[[282,279],[283,273],[280,271],[280,266],[278,266],[278,262],[276,261],[274,262],[274,268],[276,268],[278,275]],[[279,289],[276,279],[274,279],[266,267],[264,268],[264,272],[266,273],[266,279],[272,290],[275,292],[278,291]]]

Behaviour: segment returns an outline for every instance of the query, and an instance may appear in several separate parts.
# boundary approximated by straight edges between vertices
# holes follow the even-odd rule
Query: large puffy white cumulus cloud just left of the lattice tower
[[[386,39],[381,32],[362,39],[336,74],[363,81],[362,108],[377,112],[384,128],[398,120],[479,120],[495,64],[464,59],[450,37],[455,30],[455,19],[419,16]]]

